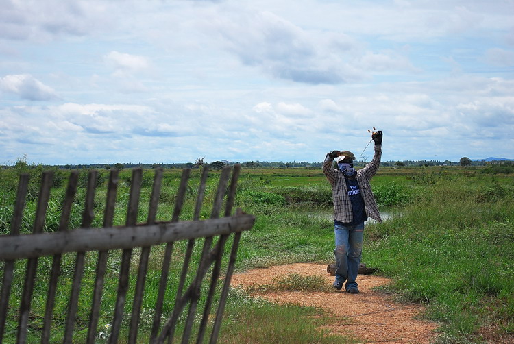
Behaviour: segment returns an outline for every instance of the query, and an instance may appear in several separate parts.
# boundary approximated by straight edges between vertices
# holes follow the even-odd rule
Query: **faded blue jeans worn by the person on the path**
[[[364,222],[358,225],[334,225],[336,236],[336,281],[344,283],[345,289],[356,288],[355,282],[363,251]]]

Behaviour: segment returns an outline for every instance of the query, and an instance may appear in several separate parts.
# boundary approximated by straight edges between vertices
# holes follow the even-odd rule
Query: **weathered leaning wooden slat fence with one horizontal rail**
[[[230,178],[231,171],[232,178]],[[241,211],[237,211],[235,215],[231,215],[239,171],[240,167],[238,165],[233,169],[231,167],[223,168],[220,173],[217,192],[212,204],[210,219],[199,220],[201,208],[204,203],[208,177],[208,168],[204,167],[197,190],[193,219],[192,221],[179,221],[179,215],[182,211],[188,188],[188,180],[191,175],[191,170],[184,169],[182,171],[171,221],[157,222],[156,214],[163,171],[162,169],[156,169],[151,196],[149,197],[147,221],[146,223],[138,224],[136,223],[136,219],[140,203],[143,171],[141,169],[133,169],[130,182],[130,195],[127,204],[126,223],[124,226],[114,227],[112,223],[117,203],[119,171],[112,170],[110,171],[108,180],[102,228],[90,228],[95,217],[93,210],[95,208],[95,185],[98,173],[97,171],[90,171],[86,188],[84,211],[82,212],[82,225],[80,225],[80,228],[70,230],[69,219],[76,197],[79,179],[79,173],[72,171],[69,175],[68,186],[64,200],[62,201],[58,230],[55,232],[44,231],[45,214],[47,213],[51,180],[53,177],[52,172],[44,172],[42,173],[42,182],[40,184],[32,234],[20,234],[23,211],[26,205],[27,188],[29,185],[28,175],[21,175],[16,195],[16,204],[14,205],[10,234],[0,236],[0,265],[3,266],[3,271],[0,270],[0,272],[3,272],[0,297],[0,343],[27,343],[27,341],[33,341],[33,339],[27,339],[27,332],[29,332],[29,330],[34,331],[33,323],[40,324],[37,329],[38,335],[40,334],[40,340],[38,340],[40,343],[55,341],[55,336],[53,336],[51,340],[51,331],[52,322],[55,321],[55,315],[53,313],[56,303],[56,290],[58,289],[60,275],[62,273],[62,257],[69,252],[76,252],[76,258],[73,271],[73,284],[71,284],[69,288],[70,294],[67,301],[67,315],[65,317],[65,324],[63,324],[64,334],[62,334],[60,342],[78,343],[74,335],[76,335],[77,332],[77,308],[79,307],[81,282],[85,273],[84,258],[87,251],[97,251],[97,253],[93,252],[97,258],[97,266],[93,295],[89,297],[91,304],[87,336],[85,340],[80,339],[80,341],[86,341],[86,343],[90,344],[97,343],[99,340],[98,335],[101,330],[103,330],[99,328],[98,323],[102,298],[105,297],[106,293],[114,292],[104,288],[104,277],[106,271],[109,269],[107,267],[108,256],[112,250],[121,250],[121,261],[117,262],[117,266],[119,266],[119,282],[116,291],[116,302],[114,310],[112,310],[110,333],[103,341],[105,343],[141,343],[141,335],[138,338],[138,328],[140,325],[141,306],[145,295],[147,269],[149,262],[151,262],[150,251],[151,247],[160,244],[165,246],[164,255],[162,258],[159,258],[162,259],[162,271],[158,281],[158,295],[153,309],[151,333],[149,335],[145,334],[145,341],[149,343],[164,343],[164,341],[171,343],[173,339],[180,338],[177,325],[179,320],[182,319],[181,321],[184,323],[183,326],[181,325],[181,328],[184,328],[182,331],[182,343],[191,343],[192,341],[196,343],[215,343],[219,335],[225,300],[228,296],[230,278],[234,270],[241,232],[250,230],[255,220],[252,215],[243,214]],[[224,200],[224,217],[220,217],[219,215],[223,209]],[[228,262],[227,260],[223,260],[222,263],[225,243],[228,242],[231,235],[233,236],[233,240],[231,240],[232,249],[230,251],[230,257],[228,258]],[[201,240],[203,241],[203,247],[199,260],[195,261],[196,269],[192,269],[193,246],[195,245],[195,240],[198,238],[203,238]],[[183,262],[180,279],[175,286],[174,295],[172,296],[174,297],[173,310],[169,311],[169,314],[163,314],[163,304],[165,301],[169,301],[165,299],[165,295],[167,288],[169,288],[169,269],[173,253],[173,244],[177,241],[186,241],[186,251],[182,257]],[[135,286],[132,285],[131,289],[134,292],[133,294],[132,292],[130,293],[130,297],[132,297],[132,295],[134,295],[134,297],[132,299],[130,321],[127,323],[128,315],[125,314],[125,302],[127,301],[127,291],[130,288],[132,250],[138,247],[140,247],[140,249],[138,249],[140,256],[137,278],[135,279]],[[42,319],[34,319],[35,316],[31,312],[31,302],[34,297],[34,283],[36,282],[36,278],[40,276],[38,274],[36,275],[38,258],[42,256],[51,256],[52,264],[51,269],[47,271],[47,275],[45,276],[45,280],[47,280],[45,313]],[[221,271],[222,266],[226,267],[226,270],[223,272]],[[13,299],[13,297],[11,297],[13,292],[13,275],[14,272],[19,273],[19,269],[25,269],[22,272],[25,275],[23,291],[16,291],[21,293],[21,297],[19,297],[20,302],[19,304],[12,304],[10,299]],[[191,278],[191,273],[193,273],[193,278]],[[190,278],[186,278],[188,275]],[[202,282],[209,278],[210,284],[208,288],[201,288]],[[221,292],[217,293],[215,296],[215,291],[220,290],[220,288],[217,288],[217,283],[219,280],[221,281],[222,278],[223,286],[221,286]],[[157,283],[157,281],[154,282]],[[14,286],[14,288],[16,288],[16,286]],[[21,288],[21,286],[19,288]],[[201,293],[204,294],[202,295]],[[199,307],[199,299],[202,296],[203,299],[206,300],[201,304],[204,308],[203,311],[197,310]],[[6,320],[8,320],[7,317],[9,315],[12,317],[13,314],[15,317],[18,317],[15,322],[18,324],[17,328],[6,332],[5,324]],[[197,322],[195,331],[193,331],[192,328],[195,317],[197,319],[201,318],[201,321],[199,321],[199,324]],[[128,330],[120,331],[122,321],[125,328],[128,327]],[[210,334],[208,334],[208,332],[210,332]],[[120,337],[122,335],[127,336],[127,338],[121,339]],[[196,339],[192,338],[194,336]],[[31,334],[30,338],[34,338],[34,335]]]

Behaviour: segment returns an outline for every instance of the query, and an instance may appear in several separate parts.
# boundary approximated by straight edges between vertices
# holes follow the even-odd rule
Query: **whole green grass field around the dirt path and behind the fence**
[[[0,170],[0,233],[7,234],[16,190],[13,169]],[[29,186],[29,201],[23,223],[23,231],[30,232],[34,219],[38,173],[32,168],[33,183]],[[212,204],[217,174],[212,171],[206,191],[206,204]],[[509,174],[510,173],[510,174]],[[85,180],[86,171],[81,173]],[[105,199],[107,171],[101,171],[99,189],[95,199],[97,214],[102,214]],[[151,188],[152,171],[143,177],[142,206],[138,215],[146,219],[143,204],[147,204]],[[119,202],[128,195],[130,171],[121,171]],[[169,220],[173,212],[175,192],[180,180],[179,170],[164,171],[160,195],[158,219]],[[56,230],[60,202],[64,195],[66,172],[56,171],[51,192],[46,230]],[[182,219],[191,218],[199,171],[192,171],[191,188],[188,189]],[[371,182],[381,209],[391,214],[382,224],[369,221],[365,229],[363,262],[378,269],[378,273],[393,278],[393,284],[383,288],[398,299],[426,304],[426,318],[441,323],[438,343],[502,343],[514,337],[514,177],[510,170],[484,167],[409,167],[381,168]],[[82,183],[84,185],[84,182]],[[332,195],[330,186],[321,169],[245,169],[241,171],[236,206],[256,215],[256,224],[242,236],[236,263],[237,271],[254,267],[267,267],[292,262],[332,262],[333,225],[331,219]],[[209,199],[210,197],[210,199]],[[78,226],[81,219],[80,204],[84,190],[77,196],[76,211],[72,223]],[[117,209],[115,222],[123,223],[125,209]],[[202,217],[210,210],[206,208]],[[95,219],[101,225],[101,216]],[[201,243],[195,245],[198,254]],[[185,243],[176,245],[171,275],[178,275],[180,258]],[[134,252],[135,275],[138,252]],[[143,304],[143,340],[151,326],[153,301],[156,288],[153,276],[158,276],[158,261],[162,247],[152,250],[149,284],[146,289],[148,302]],[[112,252],[109,264],[112,271],[119,265],[119,252]],[[75,257],[67,255],[63,260],[62,285],[58,290],[56,314],[65,314],[66,297],[69,293]],[[94,282],[95,256],[87,255],[86,274],[79,306],[79,323],[87,323],[88,296]],[[42,315],[45,307],[45,278],[51,258],[41,259],[40,278],[34,292],[34,315]],[[2,263],[0,263],[2,264]],[[15,280],[23,283],[23,264],[16,266]],[[0,276],[1,278],[1,276]],[[174,282],[171,281],[171,287]],[[303,281],[309,284],[309,281]],[[135,280],[131,280],[133,288]],[[106,281],[106,288],[116,288],[113,275]],[[298,288],[304,287],[298,286]],[[294,286],[293,286],[294,288]],[[16,290],[16,287],[13,288]],[[129,292],[130,293],[130,292]],[[133,291],[132,291],[133,293]],[[107,293],[106,293],[107,295]],[[11,305],[17,305],[14,293]],[[166,310],[173,306],[169,297]],[[110,309],[115,300],[104,299],[101,325],[108,325]],[[130,305],[128,306],[130,307]],[[165,310],[165,311],[166,311]],[[127,309],[130,312],[130,309]],[[16,326],[16,306],[10,308],[8,334]],[[228,299],[225,321],[221,328],[221,343],[351,343],[351,339],[339,338],[317,330],[316,324],[336,321],[320,310],[297,306],[277,306],[260,299],[252,299],[242,291],[233,290]],[[62,321],[62,320],[61,320]],[[60,318],[56,327],[62,328]],[[275,324],[275,325],[273,325]],[[82,327],[77,326],[77,343],[84,338]],[[105,328],[108,332],[108,326]],[[264,331],[263,329],[266,329]],[[37,334],[38,324],[31,328]],[[126,328],[124,329],[127,330]],[[56,332],[54,341],[60,341]],[[102,343],[106,333],[99,333]],[[15,338],[15,336],[14,336]],[[35,337],[34,337],[35,338]],[[273,341],[269,341],[273,338]]]

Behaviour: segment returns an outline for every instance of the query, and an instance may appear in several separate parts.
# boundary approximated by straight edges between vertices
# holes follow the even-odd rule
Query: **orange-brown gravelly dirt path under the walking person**
[[[273,278],[283,278],[291,273],[318,275],[332,285],[334,277],[326,271],[326,265],[292,264],[267,269],[254,269],[232,276],[232,286],[271,284]],[[419,304],[393,302],[383,293],[372,291],[374,286],[390,282],[375,275],[359,275],[360,294],[341,292],[289,292],[280,291],[261,295],[272,302],[293,303],[321,307],[334,317],[347,317],[341,325],[325,328],[336,334],[352,334],[363,343],[430,343],[437,334],[435,323],[415,319],[424,310]],[[348,322],[350,322],[348,324]]]

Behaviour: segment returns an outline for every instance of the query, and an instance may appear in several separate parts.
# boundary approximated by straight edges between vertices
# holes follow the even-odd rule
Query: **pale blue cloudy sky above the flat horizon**
[[[0,8],[0,164],[514,158],[513,0]]]

